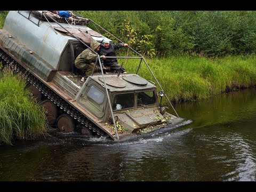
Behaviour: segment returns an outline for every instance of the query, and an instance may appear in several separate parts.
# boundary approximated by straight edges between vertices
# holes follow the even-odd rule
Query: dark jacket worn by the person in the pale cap
[[[105,55],[106,57],[116,57],[115,50],[120,49],[123,46],[123,43],[109,43],[108,48],[100,45],[99,55]],[[103,60],[104,65],[109,65],[115,62],[117,62],[116,58],[106,58]]]

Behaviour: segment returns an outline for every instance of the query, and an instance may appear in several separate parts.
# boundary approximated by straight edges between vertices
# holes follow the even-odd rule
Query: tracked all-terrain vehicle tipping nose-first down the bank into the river
[[[99,65],[101,72],[92,73],[82,82],[82,74],[74,66],[75,58],[84,49],[91,49],[91,39],[100,42],[105,37],[87,27],[89,22],[98,26],[90,19],[73,15],[68,20],[48,13],[10,11],[0,30],[0,59],[2,71],[13,70],[27,79],[31,93],[47,111],[49,125],[59,131],[119,139],[182,122],[146,60],[130,46],[138,54],[127,57],[139,60],[135,73],[106,72]],[[155,83],[138,75],[143,63],[159,92]],[[162,97],[175,116],[161,106]]]

